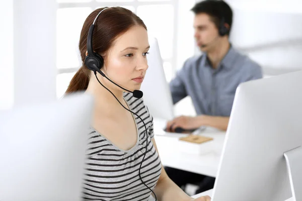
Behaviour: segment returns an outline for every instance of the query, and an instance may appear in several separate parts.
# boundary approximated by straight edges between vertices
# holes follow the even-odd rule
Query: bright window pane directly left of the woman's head
[[[82,26],[91,8],[57,10],[57,68],[79,67],[82,64],[79,41]]]

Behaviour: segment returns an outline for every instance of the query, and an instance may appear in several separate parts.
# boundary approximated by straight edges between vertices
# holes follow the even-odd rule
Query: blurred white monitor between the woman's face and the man
[[[148,69],[140,90],[143,100],[153,117],[171,120],[174,118],[173,102],[169,84],[166,80],[163,60],[156,38],[149,38]]]

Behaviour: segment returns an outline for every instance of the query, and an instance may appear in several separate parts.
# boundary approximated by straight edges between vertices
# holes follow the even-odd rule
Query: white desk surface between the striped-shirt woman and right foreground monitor
[[[216,177],[225,132],[206,129],[198,134],[214,140],[193,144],[179,140],[187,134],[165,134],[164,127],[165,121],[154,119],[155,141],[164,166]]]

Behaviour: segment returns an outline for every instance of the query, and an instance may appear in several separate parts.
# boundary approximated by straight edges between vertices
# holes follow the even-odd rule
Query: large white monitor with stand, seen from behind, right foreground
[[[297,148],[302,145],[301,103],[302,71],[249,81],[237,88],[213,201],[284,201],[294,196],[291,189],[296,200],[302,200],[297,198],[302,190],[302,152]]]

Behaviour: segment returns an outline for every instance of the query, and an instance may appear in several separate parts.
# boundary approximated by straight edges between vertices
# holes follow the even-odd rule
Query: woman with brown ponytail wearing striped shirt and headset
[[[93,51],[104,58],[100,71],[87,67],[87,38],[94,21]],[[83,25],[79,47],[83,66],[71,79],[66,93],[86,90],[95,97],[83,199],[148,200],[154,190],[158,200],[210,200],[208,196],[193,199],[172,182],[160,162],[153,119],[142,98],[133,97],[104,77],[130,91],[140,88],[148,68],[149,48],[142,20],[120,7],[97,9]]]

